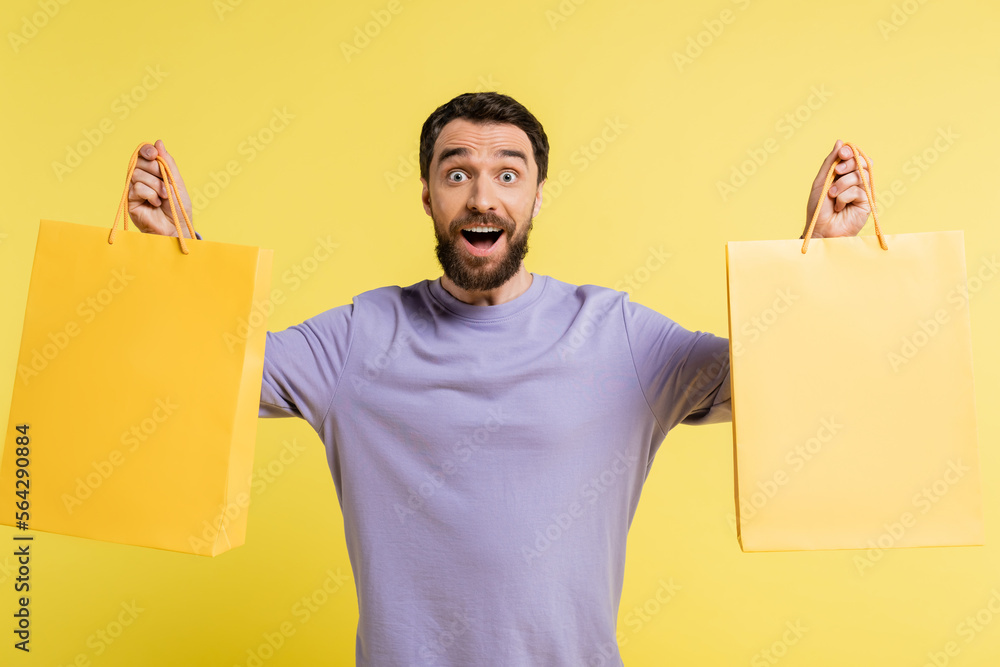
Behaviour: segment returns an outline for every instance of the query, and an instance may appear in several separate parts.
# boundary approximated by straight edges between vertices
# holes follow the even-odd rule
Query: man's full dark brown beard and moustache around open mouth
[[[470,223],[489,225],[504,231],[507,247],[502,257],[476,257],[459,248],[464,243],[461,229]],[[444,274],[460,288],[470,292],[494,290],[513,278],[521,268],[521,262],[528,254],[528,233],[531,226],[529,218],[524,230],[515,236],[516,225],[513,221],[495,213],[469,213],[453,220],[448,230],[449,235],[444,236],[438,231],[437,220],[434,220],[438,261]],[[499,243],[499,239],[497,242]]]

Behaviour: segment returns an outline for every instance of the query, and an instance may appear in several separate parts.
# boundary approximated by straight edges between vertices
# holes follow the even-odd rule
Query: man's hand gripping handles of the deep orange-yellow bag
[[[177,228],[170,215],[170,203],[167,201],[167,185],[165,177],[160,173],[160,164],[156,161],[159,154],[166,160],[177,183],[177,190],[181,195],[181,203],[187,211],[191,224],[194,224],[194,217],[191,212],[191,198],[188,196],[187,188],[184,186],[184,179],[177,169],[177,163],[170,156],[163,142],[157,140],[156,144],[145,144],[139,149],[139,155],[135,163],[135,171],[132,172],[132,182],[128,186],[128,212],[132,216],[132,221],[139,231],[151,234],[162,234],[163,236],[177,236]],[[169,196],[173,196],[170,192]],[[174,206],[177,206],[176,199]],[[184,238],[191,238],[184,224],[184,216],[177,211],[177,219],[180,221],[181,231]]]

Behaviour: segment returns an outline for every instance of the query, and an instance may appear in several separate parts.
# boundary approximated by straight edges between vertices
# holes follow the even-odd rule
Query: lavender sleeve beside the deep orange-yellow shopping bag
[[[354,306],[320,313],[284,331],[268,331],[260,417],[301,417],[319,432],[350,352]]]

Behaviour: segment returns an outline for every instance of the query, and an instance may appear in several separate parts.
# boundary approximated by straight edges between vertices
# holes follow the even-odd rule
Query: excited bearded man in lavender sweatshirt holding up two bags
[[[157,152],[179,176],[162,142],[143,147],[130,213],[176,234]],[[731,418],[726,339],[525,269],[547,166],[510,97],[442,105],[420,140],[441,278],[267,334],[259,414],[325,443],[358,665],[620,665],[626,535],[657,448],[679,423]],[[814,236],[864,225],[858,168],[838,168]]]

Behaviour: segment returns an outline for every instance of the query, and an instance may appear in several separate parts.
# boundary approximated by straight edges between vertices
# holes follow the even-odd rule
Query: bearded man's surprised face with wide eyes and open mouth
[[[496,289],[517,273],[542,204],[537,180],[531,140],[519,127],[458,118],[442,128],[420,179],[422,199],[441,268],[460,288]]]

